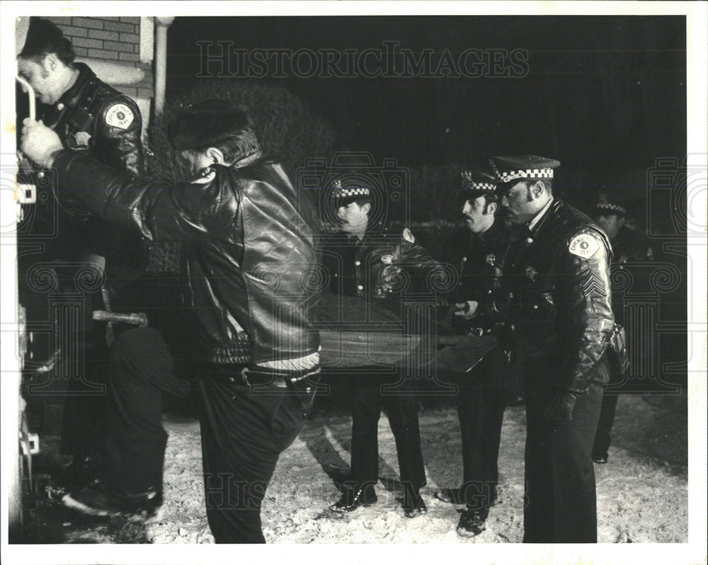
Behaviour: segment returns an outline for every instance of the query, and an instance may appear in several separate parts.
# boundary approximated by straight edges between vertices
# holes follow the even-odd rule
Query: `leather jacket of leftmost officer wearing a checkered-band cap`
[[[358,296],[394,312],[406,295],[445,292],[454,279],[408,228],[392,233],[373,224],[364,239],[352,241],[343,232],[331,234],[323,238],[321,255],[333,294]]]

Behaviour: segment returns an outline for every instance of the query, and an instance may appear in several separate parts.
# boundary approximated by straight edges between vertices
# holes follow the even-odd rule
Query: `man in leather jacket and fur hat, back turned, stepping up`
[[[57,171],[62,205],[153,241],[190,244],[184,360],[201,416],[207,518],[219,543],[264,542],[261,501],[280,452],[312,406],[319,335],[304,283],[316,267],[314,212],[298,209],[282,167],[263,159],[249,115],[226,101],[183,110],[170,138],[200,174],[173,186],[143,181],[60,147],[25,120],[23,150]],[[67,495],[89,514],[157,519],[166,433],[161,394],[185,394],[175,359],[150,328],[122,333],[110,355],[102,484]]]

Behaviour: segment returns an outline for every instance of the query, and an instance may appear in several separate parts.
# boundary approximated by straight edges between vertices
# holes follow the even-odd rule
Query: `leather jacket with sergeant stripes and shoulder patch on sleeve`
[[[596,369],[614,328],[610,261],[602,229],[561,200],[532,232],[520,228],[508,256],[504,285],[513,349],[524,358],[556,358],[547,384],[574,396],[606,379]]]

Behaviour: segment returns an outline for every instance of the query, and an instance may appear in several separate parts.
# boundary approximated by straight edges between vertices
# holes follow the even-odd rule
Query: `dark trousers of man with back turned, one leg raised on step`
[[[184,396],[190,380],[152,328],[122,333],[110,350],[103,478],[127,493],[162,489],[167,433],[162,394]],[[280,452],[302,429],[312,394],[249,386],[242,366],[202,367],[200,427],[207,518],[217,543],[265,543],[261,502]],[[314,390],[314,387],[313,387]]]

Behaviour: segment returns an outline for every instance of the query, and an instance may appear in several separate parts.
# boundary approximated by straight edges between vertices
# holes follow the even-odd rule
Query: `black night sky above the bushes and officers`
[[[168,88],[205,79],[200,40],[236,48],[521,48],[522,79],[266,78],[331,121],[341,147],[401,166],[535,153],[614,178],[657,156],[685,155],[683,16],[391,16],[176,18]]]

